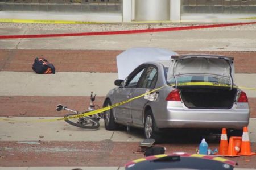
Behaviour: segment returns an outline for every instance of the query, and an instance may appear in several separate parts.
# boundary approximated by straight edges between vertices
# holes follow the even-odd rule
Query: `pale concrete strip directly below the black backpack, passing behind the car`
[[[256,74],[236,74],[237,86],[254,88]],[[33,72],[0,72],[0,96],[106,96],[114,88],[117,73],[57,72],[35,74]],[[39,83],[40,82],[40,83]],[[29,90],[28,90],[29,89]],[[47,89],[47,90],[42,90]],[[247,97],[256,97],[255,90],[242,89]]]

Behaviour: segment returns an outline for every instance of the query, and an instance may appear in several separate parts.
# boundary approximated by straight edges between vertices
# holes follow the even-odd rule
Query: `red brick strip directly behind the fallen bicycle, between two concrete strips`
[[[102,107],[105,97],[96,99],[96,105]],[[1,116],[55,117],[66,111],[56,111],[57,104],[67,105],[77,111],[86,110],[89,106],[88,96],[0,96]],[[250,117],[256,118],[256,98],[249,98]]]

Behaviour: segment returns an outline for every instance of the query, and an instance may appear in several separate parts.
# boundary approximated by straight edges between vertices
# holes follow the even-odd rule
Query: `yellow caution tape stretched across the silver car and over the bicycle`
[[[220,84],[220,83],[216,83],[216,82],[184,82],[184,83],[178,83],[177,86],[192,86],[192,85],[196,85],[196,86],[218,86],[218,87],[230,87],[230,85],[228,84]],[[106,110],[110,110],[113,109],[114,107],[117,106],[121,106],[124,105],[125,103],[129,103],[135,99],[141,98],[143,96],[145,96],[146,94],[150,94],[153,93],[157,90],[160,90],[166,86],[175,86],[175,84],[168,84],[168,85],[164,85],[160,88],[156,88],[153,89],[149,92],[143,93],[139,96],[127,99],[126,101],[122,101],[119,103],[115,103],[114,105],[111,106],[107,106],[107,107],[103,107],[101,109],[97,109],[97,110],[93,110],[93,111],[86,111],[83,112],[81,114],[77,114],[77,115],[73,115],[73,116],[69,116],[69,117],[65,117],[65,118],[56,118],[56,119],[40,119],[40,120],[32,120],[32,121],[20,121],[20,120],[13,120],[13,119],[6,119],[6,118],[0,118],[0,121],[10,121],[10,122],[53,122],[53,121],[64,121],[66,119],[74,119],[74,118],[81,118],[81,117],[86,117],[86,116],[90,116],[90,115],[94,115],[97,113],[102,113]],[[241,87],[241,86],[233,86],[233,88],[241,88],[241,89],[249,89],[249,90],[256,90],[256,88],[246,88],[246,87]]]

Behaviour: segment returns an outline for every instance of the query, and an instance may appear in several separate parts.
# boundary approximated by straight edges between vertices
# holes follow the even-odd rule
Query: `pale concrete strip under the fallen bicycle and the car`
[[[0,117],[10,121],[1,121],[0,141],[103,141],[113,142],[141,142],[144,139],[143,131],[125,130],[107,131],[104,120],[100,120],[98,130],[86,130],[69,125],[64,121],[36,122],[44,119],[61,117]],[[256,118],[250,118],[248,126],[250,141],[256,142]],[[89,138],[85,138],[85,135]],[[40,138],[43,136],[43,138]]]

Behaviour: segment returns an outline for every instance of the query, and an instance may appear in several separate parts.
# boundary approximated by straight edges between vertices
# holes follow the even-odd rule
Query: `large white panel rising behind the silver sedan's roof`
[[[127,49],[117,56],[118,79],[125,80],[142,63],[171,60],[172,55],[177,55],[177,53],[162,48],[136,47]]]

